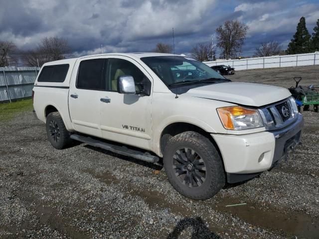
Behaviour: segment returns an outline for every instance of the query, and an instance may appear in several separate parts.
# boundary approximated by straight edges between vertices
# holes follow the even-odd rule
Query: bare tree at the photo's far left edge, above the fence
[[[17,47],[11,41],[0,41],[0,67],[14,66],[17,63]]]

